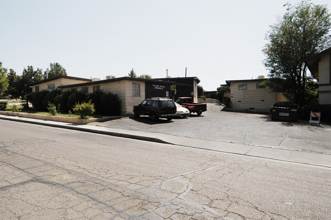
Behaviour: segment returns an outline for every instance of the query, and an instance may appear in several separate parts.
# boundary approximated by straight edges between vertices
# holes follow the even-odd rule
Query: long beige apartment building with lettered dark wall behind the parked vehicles
[[[32,85],[33,92],[42,90],[60,89],[76,90],[82,93],[92,93],[93,91],[102,90],[103,92],[111,92],[117,94],[121,100],[121,115],[128,115],[133,113],[133,106],[140,104],[144,99],[152,97],[169,97],[170,87],[176,85],[176,97],[185,95],[198,100],[198,93],[196,84],[200,82],[197,77],[190,77],[187,83],[179,83],[172,78],[161,79],[141,79],[132,77],[107,77],[104,80],[98,79],[84,79],[72,76],[57,76],[34,82]],[[194,78],[194,79],[192,79]],[[196,92],[195,92],[196,91]]]

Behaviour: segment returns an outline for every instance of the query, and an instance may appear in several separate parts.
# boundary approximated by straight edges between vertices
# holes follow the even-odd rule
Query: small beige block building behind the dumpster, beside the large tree
[[[230,87],[232,109],[270,112],[276,102],[286,101],[281,93],[270,92],[262,85],[264,76],[257,79],[226,80]]]

